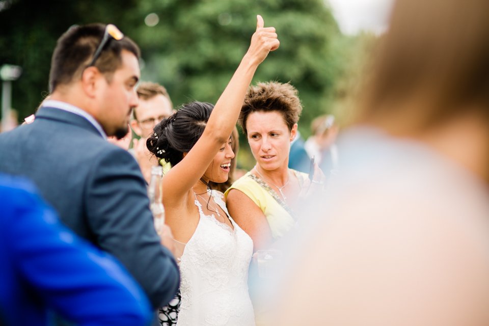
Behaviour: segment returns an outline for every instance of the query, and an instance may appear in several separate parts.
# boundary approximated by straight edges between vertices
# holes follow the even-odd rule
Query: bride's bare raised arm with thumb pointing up
[[[276,50],[280,45],[275,28],[264,28],[263,25],[263,18],[258,15],[256,31],[251,38],[250,47],[215,104],[204,133],[183,160],[163,178],[163,186],[172,189],[165,194],[165,201],[174,202],[185,196],[202,177],[221,146],[229,139],[236,125],[244,95],[258,65],[266,58],[269,51]]]

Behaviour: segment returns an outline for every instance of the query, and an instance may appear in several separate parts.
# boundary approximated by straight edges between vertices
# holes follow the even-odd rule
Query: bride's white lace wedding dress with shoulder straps
[[[223,194],[209,191],[229,216]],[[255,316],[248,293],[253,241],[229,216],[234,230],[205,215],[180,257],[181,306],[177,326],[252,326]]]

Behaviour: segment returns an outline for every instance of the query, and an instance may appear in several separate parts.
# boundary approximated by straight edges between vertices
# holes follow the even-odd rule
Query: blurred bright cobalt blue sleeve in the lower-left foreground
[[[17,187],[8,194],[10,202],[1,205],[10,216],[5,243],[16,270],[47,307],[79,325],[150,322],[144,292],[115,259],[62,226],[32,191]]]

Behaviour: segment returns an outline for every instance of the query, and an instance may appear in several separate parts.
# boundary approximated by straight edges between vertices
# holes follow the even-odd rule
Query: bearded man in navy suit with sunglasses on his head
[[[154,308],[179,285],[170,247],[153,227],[145,181],[124,137],[140,77],[139,48],[114,25],[74,26],[51,60],[49,100],[33,123],[0,134],[0,172],[33,180],[62,222],[113,254]],[[168,228],[168,227],[167,227]]]

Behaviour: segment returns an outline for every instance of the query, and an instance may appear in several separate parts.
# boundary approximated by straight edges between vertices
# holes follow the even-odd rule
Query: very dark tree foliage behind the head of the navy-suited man
[[[48,94],[49,67],[56,40],[74,24],[112,22],[130,31],[137,0],[0,1],[0,65],[21,66],[12,86],[12,106],[22,119]]]

